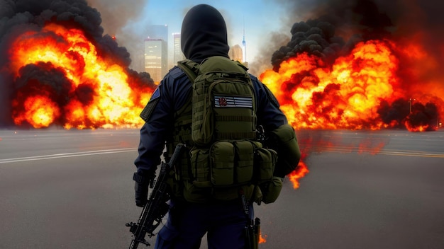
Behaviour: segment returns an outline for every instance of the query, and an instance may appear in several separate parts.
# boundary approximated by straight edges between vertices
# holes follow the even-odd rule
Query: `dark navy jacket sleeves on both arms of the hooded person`
[[[258,125],[262,125],[265,131],[271,131],[287,124],[287,118],[279,110],[279,103],[271,91],[255,76],[250,74],[250,77],[255,88]],[[174,131],[174,112],[191,99],[191,93],[191,81],[177,66],[168,72],[152,93],[150,101],[159,99],[147,122],[140,129],[139,155],[134,161],[139,173],[141,170],[155,170],[160,164],[167,136],[171,136]]]

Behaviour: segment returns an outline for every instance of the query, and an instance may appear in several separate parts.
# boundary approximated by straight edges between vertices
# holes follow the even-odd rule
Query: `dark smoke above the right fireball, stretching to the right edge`
[[[301,42],[306,52],[331,58],[331,50],[348,52],[357,42],[370,39],[409,40],[420,36],[428,54],[437,63],[444,63],[444,1],[421,0],[276,0],[287,9],[284,16],[286,44],[274,50],[272,66],[279,68],[283,57],[299,52]],[[318,30],[321,29],[321,30]],[[311,36],[313,33],[321,36]],[[282,40],[282,39],[281,39]],[[311,49],[306,43],[314,44]],[[277,44],[277,43],[276,43]],[[281,44],[279,44],[281,46]],[[320,47],[322,47],[322,50]],[[296,47],[296,48],[295,48]],[[308,46],[310,47],[310,46]],[[338,54],[340,56],[341,54]],[[440,78],[444,78],[443,72]],[[427,78],[424,73],[424,78]]]

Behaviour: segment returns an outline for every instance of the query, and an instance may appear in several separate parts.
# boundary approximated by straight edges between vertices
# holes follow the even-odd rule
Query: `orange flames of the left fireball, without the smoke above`
[[[23,79],[36,86],[18,87],[13,100],[16,125],[28,123],[41,128],[55,124],[84,129],[143,124],[139,114],[150,98],[152,86],[137,82],[121,62],[101,56],[103,52],[82,30],[49,23],[41,30],[29,30],[16,37],[10,51],[9,68],[18,79],[25,77],[21,73],[30,65],[36,66],[41,75],[54,71],[59,74],[53,79]],[[48,86],[51,94],[35,102],[38,89]]]

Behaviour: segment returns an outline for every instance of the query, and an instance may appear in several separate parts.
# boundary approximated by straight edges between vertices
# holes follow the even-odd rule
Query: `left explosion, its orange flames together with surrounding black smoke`
[[[155,87],[84,0],[1,1],[0,126],[135,127]]]

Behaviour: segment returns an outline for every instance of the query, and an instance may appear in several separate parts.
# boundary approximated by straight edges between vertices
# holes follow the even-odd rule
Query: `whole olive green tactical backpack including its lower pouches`
[[[255,185],[270,181],[276,154],[256,141],[255,91],[245,66],[226,57],[179,62],[192,80],[192,174],[184,183],[189,202],[250,199]]]

